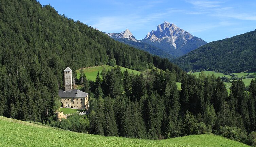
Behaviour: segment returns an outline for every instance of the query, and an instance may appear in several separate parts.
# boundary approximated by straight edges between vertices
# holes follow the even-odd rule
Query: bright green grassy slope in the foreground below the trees
[[[0,146],[247,146],[214,135],[143,140],[81,134],[0,116]]]

